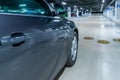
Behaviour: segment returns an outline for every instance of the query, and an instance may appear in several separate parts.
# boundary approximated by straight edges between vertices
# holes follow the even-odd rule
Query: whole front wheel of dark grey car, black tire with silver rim
[[[72,67],[76,62],[77,54],[78,54],[78,37],[77,37],[76,32],[74,32],[74,38],[72,40],[71,48],[69,50],[70,51],[68,53],[68,59],[67,59],[66,66]]]

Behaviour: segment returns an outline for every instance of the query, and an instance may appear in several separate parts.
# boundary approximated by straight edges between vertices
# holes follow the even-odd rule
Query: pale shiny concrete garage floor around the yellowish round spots
[[[74,20],[79,29],[79,53],[75,66],[66,68],[59,80],[120,80],[119,25],[103,16]],[[84,37],[94,37],[85,40]],[[110,44],[99,44],[108,40]]]

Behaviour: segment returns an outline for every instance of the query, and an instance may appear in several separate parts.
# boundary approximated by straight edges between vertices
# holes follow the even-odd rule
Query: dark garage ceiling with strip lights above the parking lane
[[[101,12],[110,3],[114,3],[115,0],[55,0],[55,1],[66,2],[67,4],[69,4],[71,6],[73,6],[73,5],[81,6],[83,8],[89,7],[92,9],[92,11]]]

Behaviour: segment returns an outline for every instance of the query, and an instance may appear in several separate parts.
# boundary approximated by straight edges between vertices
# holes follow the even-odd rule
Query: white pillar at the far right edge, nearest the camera
[[[120,22],[120,0],[115,1],[115,21]]]

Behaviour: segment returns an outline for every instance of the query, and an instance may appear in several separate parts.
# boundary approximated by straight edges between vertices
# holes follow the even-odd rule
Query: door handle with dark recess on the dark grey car
[[[9,46],[12,45],[13,47],[18,47],[24,44],[27,40],[27,36],[23,33],[13,33],[10,36],[3,37],[0,40],[1,46]]]

